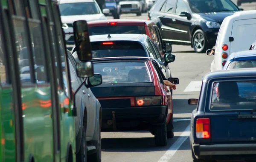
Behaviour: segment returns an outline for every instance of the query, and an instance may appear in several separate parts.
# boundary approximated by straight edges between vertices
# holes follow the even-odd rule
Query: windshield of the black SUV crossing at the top
[[[230,0],[189,0],[193,13],[239,11]]]

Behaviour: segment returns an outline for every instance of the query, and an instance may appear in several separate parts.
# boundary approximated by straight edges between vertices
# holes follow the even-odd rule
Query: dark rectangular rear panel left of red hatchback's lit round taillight
[[[131,107],[131,99],[99,100],[102,109]]]

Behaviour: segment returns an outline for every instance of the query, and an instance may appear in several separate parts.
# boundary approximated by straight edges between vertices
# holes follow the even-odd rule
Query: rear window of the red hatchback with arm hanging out
[[[152,82],[146,62],[94,63],[94,73],[102,75],[102,84]]]

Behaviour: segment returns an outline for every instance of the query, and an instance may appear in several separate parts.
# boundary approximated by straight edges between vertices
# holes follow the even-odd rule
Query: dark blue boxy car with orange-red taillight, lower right
[[[194,162],[256,160],[256,75],[254,68],[222,70],[203,78],[192,112]]]

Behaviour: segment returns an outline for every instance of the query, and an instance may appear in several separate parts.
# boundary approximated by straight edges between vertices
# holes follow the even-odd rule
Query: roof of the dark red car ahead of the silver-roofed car
[[[151,25],[151,24],[156,25],[155,22],[151,20],[125,20],[125,19],[108,19],[108,20],[90,21],[87,24],[88,24],[88,27],[108,26],[108,22],[117,22],[117,26],[118,25],[144,26],[144,25]]]

